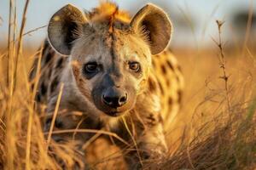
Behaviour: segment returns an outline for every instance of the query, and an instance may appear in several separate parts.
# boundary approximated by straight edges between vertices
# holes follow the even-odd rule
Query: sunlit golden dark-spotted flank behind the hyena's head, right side
[[[153,68],[153,74],[160,89],[160,112],[165,120],[165,128],[167,128],[177,116],[182,104],[183,73],[170,50],[154,56]]]

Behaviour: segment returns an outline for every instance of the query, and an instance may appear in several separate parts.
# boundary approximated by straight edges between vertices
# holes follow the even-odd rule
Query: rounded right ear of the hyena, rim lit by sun
[[[162,52],[171,40],[172,24],[163,9],[148,3],[131,20],[131,27],[146,36],[151,54]]]

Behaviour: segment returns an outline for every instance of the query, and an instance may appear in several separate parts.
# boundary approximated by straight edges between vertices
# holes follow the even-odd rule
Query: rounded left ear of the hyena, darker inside
[[[58,10],[49,20],[49,42],[60,54],[69,55],[73,41],[83,31],[84,23],[86,23],[84,13],[79,8],[67,4]]]

